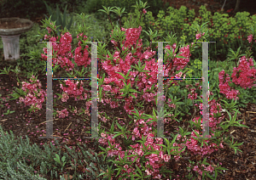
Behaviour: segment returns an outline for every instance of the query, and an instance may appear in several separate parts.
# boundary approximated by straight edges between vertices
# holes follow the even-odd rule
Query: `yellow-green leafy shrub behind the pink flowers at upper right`
[[[218,12],[212,15],[205,6],[201,6],[199,12],[200,16],[195,17],[194,9],[188,10],[184,6],[179,9],[169,7],[166,12],[160,10],[157,19],[154,20],[154,25],[144,25],[144,27],[157,30],[160,36],[159,41],[163,41],[164,37],[172,32],[172,34],[177,34],[178,41],[186,44],[195,40],[196,31],[192,30],[196,27],[195,23],[202,25],[208,22],[209,37],[207,41],[216,42],[209,45],[209,55],[212,59],[217,59],[217,57],[221,60],[226,59],[226,52],[230,48],[241,47],[242,51],[246,50],[249,45],[247,42],[248,30],[251,25],[256,23],[256,15],[249,17],[247,12],[238,12],[234,18]],[[146,21],[143,22],[146,24]],[[145,31],[148,30],[145,29]],[[253,46],[252,50],[255,57],[256,46]],[[193,52],[192,57],[194,56],[201,56],[201,48]]]

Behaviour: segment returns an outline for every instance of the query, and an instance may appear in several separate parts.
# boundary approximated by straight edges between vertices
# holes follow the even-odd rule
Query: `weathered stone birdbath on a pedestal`
[[[32,28],[32,21],[20,18],[0,19],[0,37],[3,41],[4,60],[20,59],[20,34]]]

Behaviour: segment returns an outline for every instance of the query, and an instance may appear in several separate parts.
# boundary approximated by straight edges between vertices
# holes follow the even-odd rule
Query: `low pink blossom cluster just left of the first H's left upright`
[[[38,109],[42,109],[42,104],[44,103],[44,96],[46,96],[47,94],[43,89],[41,89],[41,82],[39,82],[39,80],[35,82],[35,76],[31,77],[30,82],[32,82],[32,84],[28,82],[22,82],[22,90],[25,91],[27,94],[25,99],[23,97],[20,97],[19,102],[24,102],[26,105],[32,104],[32,106],[35,106],[37,104],[35,107]],[[41,89],[40,93],[38,93],[38,88]],[[33,91],[37,92],[38,96],[36,96]]]

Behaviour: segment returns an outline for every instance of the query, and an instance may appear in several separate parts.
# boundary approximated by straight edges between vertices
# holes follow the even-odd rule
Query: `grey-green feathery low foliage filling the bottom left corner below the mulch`
[[[111,157],[107,157],[105,160],[102,155],[97,155],[85,144],[84,147],[78,144],[81,153],[75,152],[75,149],[70,149],[67,145],[65,145],[67,153],[61,153],[58,140],[55,140],[55,144],[56,146],[52,143],[50,146],[44,144],[43,150],[36,144],[30,145],[27,136],[26,140],[21,137],[15,139],[12,131],[9,134],[3,132],[3,128],[0,127],[0,179],[41,180],[46,179],[44,176],[49,173],[51,179],[59,178],[58,168],[52,170],[56,162],[61,166],[61,172],[65,166],[72,166],[75,170],[73,179],[96,179],[100,173],[107,172],[109,166],[107,160],[111,160]],[[94,143],[94,147],[98,147],[98,142]],[[40,166],[40,175],[34,169],[37,166]],[[84,173],[77,172],[78,166],[86,167],[86,171]]]

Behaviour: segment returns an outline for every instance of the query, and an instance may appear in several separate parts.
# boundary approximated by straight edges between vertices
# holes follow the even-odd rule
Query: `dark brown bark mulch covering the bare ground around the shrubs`
[[[9,67],[9,64],[0,62],[0,69],[3,70],[3,67]],[[15,66],[13,66],[15,67]],[[9,75],[0,75],[0,94],[2,94],[1,99],[3,98],[12,98],[9,96],[9,93],[14,90],[14,87],[17,86],[17,80],[14,72],[10,71]],[[20,82],[25,81],[23,77],[19,77]],[[38,75],[38,80],[42,83],[43,88],[46,87],[46,77],[45,74]],[[28,80],[26,80],[28,82]],[[53,81],[53,92],[60,93],[61,89],[58,85],[59,82]],[[89,84],[84,82],[85,88],[90,89]],[[21,87],[21,86],[20,86]],[[60,89],[60,90],[58,90]],[[61,91],[62,92],[62,91]],[[17,104],[16,100],[7,100],[7,102],[0,101],[0,105],[3,105],[0,109],[0,126],[3,127],[4,132],[9,132],[10,130],[14,132],[15,137],[21,136],[23,139],[27,136],[30,139],[30,143],[36,143],[41,149],[43,149],[43,143],[50,143],[53,139],[49,138],[39,138],[44,137],[46,132],[46,126],[44,121],[46,121],[46,104],[43,104],[43,110],[38,110],[38,112],[29,114],[27,111],[29,107],[25,107],[24,104]],[[70,98],[67,100],[67,103],[62,104],[61,99],[56,100],[57,106],[54,106],[54,109],[63,110],[65,108],[69,109],[69,105],[71,107],[77,107],[80,110],[82,107],[85,107],[85,101],[75,101],[74,98]],[[121,104],[122,107],[124,105]],[[148,107],[152,108],[152,104],[148,104]],[[3,115],[3,113],[7,112],[7,110],[15,111],[9,115]],[[154,107],[155,109],[155,107]],[[98,103],[99,114],[101,112],[106,113],[113,120],[114,117],[119,117],[121,120],[129,120],[128,115],[125,114],[125,110],[122,108],[111,109],[108,104],[104,105],[102,103]],[[237,151],[236,155],[234,149],[230,149],[227,143],[224,143],[224,149],[220,149],[215,151],[210,155],[211,164],[217,165],[218,162],[222,163],[222,167],[229,169],[228,171],[223,172],[223,174],[218,173],[218,179],[233,179],[233,180],[244,180],[244,179],[256,179],[256,171],[255,171],[255,161],[256,161],[256,148],[255,148],[255,135],[256,135],[256,104],[247,104],[246,109],[239,109],[241,115],[237,115],[237,120],[242,119],[245,122],[246,127],[230,127],[229,132],[225,132],[225,137],[233,137],[234,141],[237,143],[243,144],[239,147],[242,152]],[[122,114],[120,114],[122,112]],[[150,110],[147,110],[148,114]],[[174,132],[177,127],[187,127],[189,125],[189,120],[193,115],[192,110],[190,110],[191,115],[183,116],[183,121],[177,122],[173,126],[165,126],[165,132]],[[199,112],[197,112],[198,114]],[[3,116],[2,116],[3,115]],[[233,116],[234,113],[232,112]],[[227,113],[225,113],[225,118],[229,119]],[[87,120],[85,120],[87,119]],[[85,120],[85,121],[84,121]],[[99,121],[101,121],[99,119]],[[130,120],[129,120],[130,121]],[[112,123],[112,121],[111,121]],[[125,121],[128,124],[128,122]],[[75,146],[76,149],[79,148],[77,143],[82,144],[86,143],[87,147],[94,149],[96,153],[99,153],[101,149],[96,147],[94,139],[88,139],[84,137],[90,137],[90,116],[86,115],[73,115],[69,111],[68,119],[61,119],[55,117],[53,121],[53,134],[56,137],[60,137],[58,140],[61,143],[61,146],[64,147],[67,144],[68,147]],[[105,130],[108,132],[111,124],[110,122],[104,123],[102,122],[102,127],[105,127]],[[131,127],[128,129],[131,129]],[[115,128],[118,130],[118,128]],[[44,132],[42,132],[44,131]],[[191,132],[191,128],[189,128]],[[59,133],[58,133],[59,132]],[[68,134],[67,134],[68,133]],[[174,132],[176,133],[176,132]],[[68,139],[68,141],[66,141]],[[125,149],[125,147],[122,147]],[[65,150],[66,149],[62,149]],[[167,166],[172,170],[173,175],[172,178],[180,178],[185,177],[189,174],[187,170],[186,163],[189,163],[189,160],[199,161],[203,160],[200,155],[183,155],[179,161],[175,162],[172,160]],[[208,161],[208,160],[207,160]],[[208,161],[209,162],[209,161]],[[39,168],[39,167],[38,167]],[[39,169],[38,169],[39,170]],[[194,175],[195,172],[191,171]],[[179,176],[179,177],[178,177]],[[164,178],[167,179],[167,178]]]

